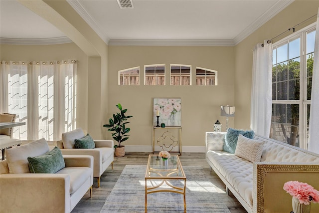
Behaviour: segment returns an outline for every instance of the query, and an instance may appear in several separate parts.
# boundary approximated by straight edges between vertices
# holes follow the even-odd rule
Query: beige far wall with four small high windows
[[[192,66],[191,86],[169,85],[169,64]],[[145,86],[144,65],[166,64],[166,85]],[[139,86],[119,86],[118,71],[140,66]],[[218,86],[197,86],[196,66],[218,71]],[[221,105],[234,104],[234,47],[184,46],[109,46],[109,117],[121,103],[128,109],[131,138],[123,145],[151,146],[153,137],[153,98],[181,98],[183,146],[205,146],[205,131],[213,131],[217,119],[225,129],[225,117],[220,117]],[[106,123],[108,120],[105,121]],[[229,119],[234,126],[234,118]]]

